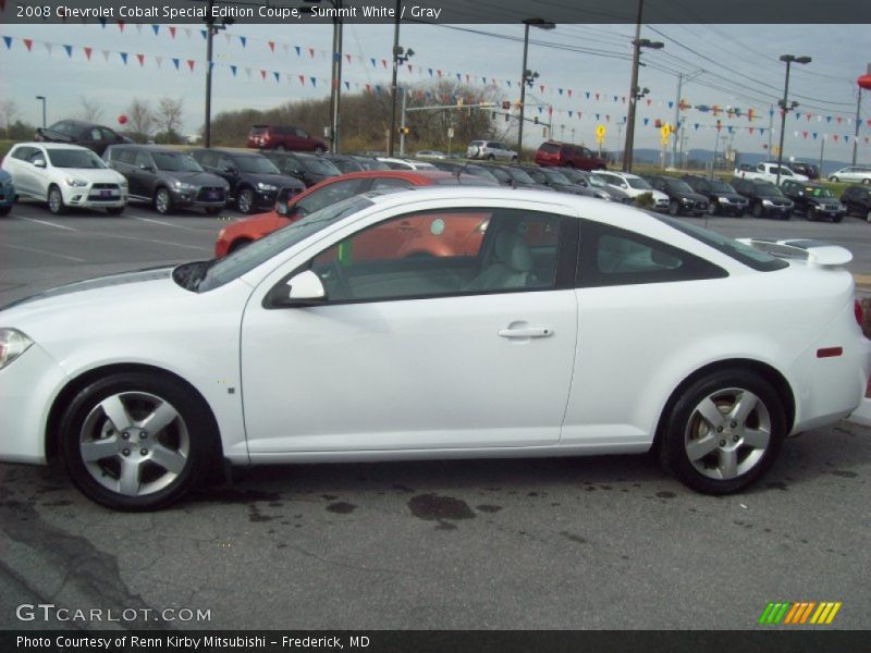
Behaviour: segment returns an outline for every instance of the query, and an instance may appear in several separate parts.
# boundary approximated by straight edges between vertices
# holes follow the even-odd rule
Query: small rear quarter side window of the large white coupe
[[[593,222],[581,226],[577,285],[600,287],[719,279],[725,270],[688,251]]]

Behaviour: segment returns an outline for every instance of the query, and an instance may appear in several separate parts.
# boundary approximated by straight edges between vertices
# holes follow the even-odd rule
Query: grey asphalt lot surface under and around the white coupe
[[[0,220],[0,304],[209,258],[222,223],[17,205]],[[871,227],[852,218],[709,225],[835,242],[871,271]],[[160,514],[118,515],[58,470],[0,466],[0,564],[14,570],[0,595],[211,609],[182,628],[751,628],[769,601],[841,601],[833,626],[859,628],[869,472],[869,432],[847,423],[788,441],[762,483],[724,498],[638,456],[258,468]],[[12,611],[0,625],[41,626]]]

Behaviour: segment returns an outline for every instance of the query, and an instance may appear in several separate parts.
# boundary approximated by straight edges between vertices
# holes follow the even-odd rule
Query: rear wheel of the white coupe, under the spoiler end
[[[687,486],[736,492],[774,463],[786,436],[777,392],[739,368],[712,372],[686,387],[666,416],[660,460]]]

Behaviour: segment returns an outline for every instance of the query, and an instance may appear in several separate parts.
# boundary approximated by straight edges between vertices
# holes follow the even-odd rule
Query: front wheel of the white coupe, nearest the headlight
[[[208,407],[183,383],[124,372],[73,398],[59,451],[89,500],[115,510],[154,510],[180,498],[211,467],[214,434]]]

